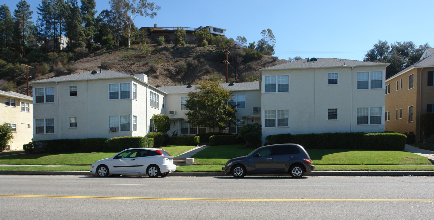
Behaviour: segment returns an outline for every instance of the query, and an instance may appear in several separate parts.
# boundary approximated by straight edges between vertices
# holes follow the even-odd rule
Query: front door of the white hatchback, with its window
[[[137,150],[128,150],[116,155],[116,158],[112,159],[109,172],[134,172],[137,166],[136,154]]]

